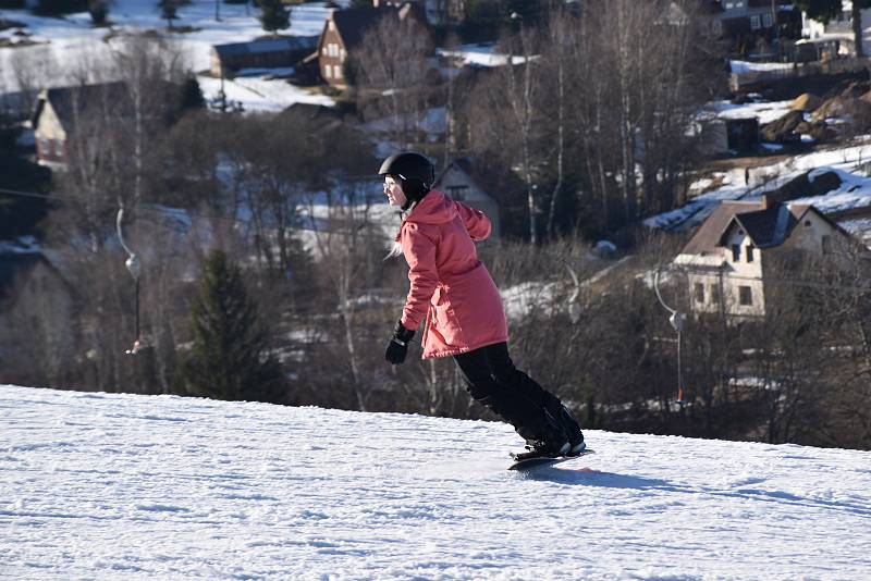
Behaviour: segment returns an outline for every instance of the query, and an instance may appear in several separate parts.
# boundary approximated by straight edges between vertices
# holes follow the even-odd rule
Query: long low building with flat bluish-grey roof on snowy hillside
[[[232,77],[243,69],[290,69],[317,47],[319,36],[262,38],[211,47],[211,74]]]

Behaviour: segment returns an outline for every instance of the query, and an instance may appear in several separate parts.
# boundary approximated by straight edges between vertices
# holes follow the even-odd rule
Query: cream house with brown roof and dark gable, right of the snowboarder
[[[765,276],[777,258],[801,250],[825,259],[851,243],[847,232],[813,206],[764,196],[761,201],[721,203],[674,262],[687,272],[692,312],[741,320],[765,314]]]

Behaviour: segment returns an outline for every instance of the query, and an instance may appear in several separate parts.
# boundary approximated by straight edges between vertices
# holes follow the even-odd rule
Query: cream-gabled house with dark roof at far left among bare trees
[[[130,95],[123,83],[44,89],[30,118],[37,162],[52,169],[64,168],[70,138],[79,122],[94,116],[128,114],[130,108]]]

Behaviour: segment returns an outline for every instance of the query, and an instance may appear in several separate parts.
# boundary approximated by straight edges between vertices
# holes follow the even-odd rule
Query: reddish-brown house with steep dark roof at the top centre
[[[375,29],[384,17],[396,17],[401,22],[415,18],[426,26],[420,7],[412,2],[405,2],[398,8],[389,4],[333,10],[330,13],[323,23],[317,52],[320,76],[324,82],[341,89],[349,86],[345,70],[348,54],[360,47],[366,33]]]

